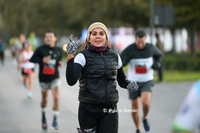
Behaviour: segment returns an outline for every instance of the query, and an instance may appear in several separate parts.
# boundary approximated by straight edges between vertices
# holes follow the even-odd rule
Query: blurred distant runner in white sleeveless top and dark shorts
[[[33,78],[34,78],[34,67],[35,64],[29,62],[30,58],[33,55],[32,44],[25,43],[24,50],[21,52],[19,56],[19,64],[22,67],[22,76],[23,76],[23,84],[25,88],[28,88],[27,96],[28,98],[32,98],[32,88],[33,88]]]

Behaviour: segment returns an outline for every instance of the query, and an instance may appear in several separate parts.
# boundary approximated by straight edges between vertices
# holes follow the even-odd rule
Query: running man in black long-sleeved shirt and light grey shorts
[[[47,129],[45,110],[48,100],[48,90],[53,94],[53,123],[52,128],[58,130],[57,116],[59,114],[59,91],[60,79],[58,66],[62,66],[62,50],[55,46],[56,33],[47,31],[45,33],[45,44],[35,50],[30,62],[39,63],[39,82],[42,88],[42,129]]]

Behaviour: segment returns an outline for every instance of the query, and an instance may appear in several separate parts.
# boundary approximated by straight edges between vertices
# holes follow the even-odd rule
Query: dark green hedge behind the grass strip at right
[[[189,52],[167,54],[164,64],[165,70],[200,71],[200,52],[196,52],[196,57]]]

